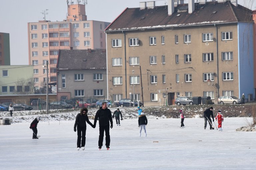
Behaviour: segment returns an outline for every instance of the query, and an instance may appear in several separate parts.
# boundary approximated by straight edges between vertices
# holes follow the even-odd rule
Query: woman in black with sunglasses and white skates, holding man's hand
[[[80,110],[80,113],[77,114],[77,116],[76,116],[74,131],[76,132],[76,127],[77,127],[77,150],[79,150],[81,148],[81,146],[82,146],[82,149],[84,150],[86,122],[89,125],[91,125],[91,127],[93,127],[93,124],[89,121],[87,113],[88,113],[87,108],[83,108]],[[81,137],[82,137],[82,143],[81,143]]]

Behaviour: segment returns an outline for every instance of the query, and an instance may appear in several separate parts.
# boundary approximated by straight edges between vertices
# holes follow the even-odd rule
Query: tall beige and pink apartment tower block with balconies
[[[29,65],[34,65],[35,89],[47,81],[57,81],[56,65],[59,50],[106,49],[104,29],[108,22],[87,21],[84,4],[68,5],[67,20],[62,22],[39,21],[28,23]]]

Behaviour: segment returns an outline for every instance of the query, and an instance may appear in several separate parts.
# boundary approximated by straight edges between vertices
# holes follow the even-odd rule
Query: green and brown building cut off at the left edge
[[[0,65],[11,65],[9,33],[0,33]]]

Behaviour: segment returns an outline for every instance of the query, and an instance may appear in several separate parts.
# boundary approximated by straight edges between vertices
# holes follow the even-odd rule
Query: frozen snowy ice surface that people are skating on
[[[39,139],[32,139],[30,123],[0,126],[1,168],[8,170],[249,170],[256,168],[256,132],[236,131],[246,119],[224,118],[223,131],[204,130],[201,118],[148,118],[147,137],[139,137],[137,119],[125,119],[110,129],[110,150],[98,149],[99,127],[87,126],[85,150],[77,151],[74,120],[51,120],[38,124]],[[13,119],[18,119],[13,118]],[[21,119],[19,119],[21,120]],[[50,119],[49,119],[50,120]],[[90,120],[93,122],[93,120]],[[215,122],[217,123],[217,122]],[[103,145],[105,144],[105,137]]]

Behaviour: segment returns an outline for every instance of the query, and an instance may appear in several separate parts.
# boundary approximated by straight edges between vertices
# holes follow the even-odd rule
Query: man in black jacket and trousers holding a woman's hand
[[[109,135],[109,122],[110,122],[110,128],[113,128],[113,121],[112,121],[112,114],[111,111],[107,108],[107,102],[102,103],[102,107],[96,112],[95,118],[94,118],[94,127],[96,127],[97,119],[99,118],[99,149],[101,149],[103,145],[103,137],[104,137],[104,130],[106,134],[106,147],[107,150],[109,149],[110,145],[110,135]]]

